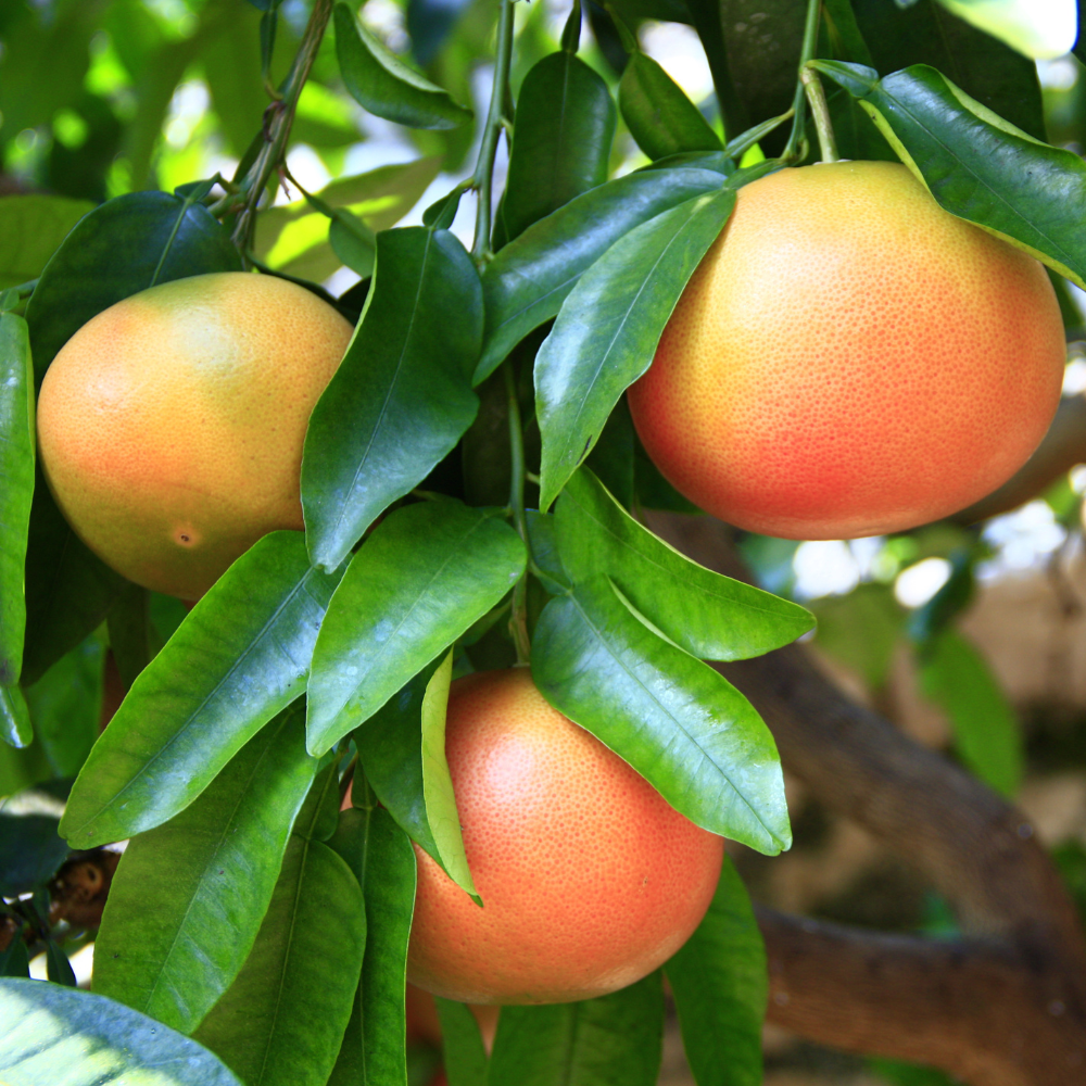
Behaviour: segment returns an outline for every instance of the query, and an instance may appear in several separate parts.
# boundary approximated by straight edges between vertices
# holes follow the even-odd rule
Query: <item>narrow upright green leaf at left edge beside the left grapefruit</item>
[[[23,577],[34,496],[34,369],[26,321],[0,313],[0,687],[23,670]],[[8,737],[7,735],[4,736]],[[30,733],[16,745],[30,742]]]

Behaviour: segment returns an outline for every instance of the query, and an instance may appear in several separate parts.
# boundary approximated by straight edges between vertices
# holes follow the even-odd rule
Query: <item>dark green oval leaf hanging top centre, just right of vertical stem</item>
[[[607,84],[572,53],[551,53],[525,76],[502,204],[507,239],[607,180],[615,119]]]

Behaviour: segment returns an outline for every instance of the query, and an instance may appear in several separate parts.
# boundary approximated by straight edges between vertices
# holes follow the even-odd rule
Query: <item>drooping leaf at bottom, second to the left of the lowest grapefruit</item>
[[[245,964],[195,1033],[245,1086],[325,1086],[362,972],[366,915],[344,860],[292,834]]]

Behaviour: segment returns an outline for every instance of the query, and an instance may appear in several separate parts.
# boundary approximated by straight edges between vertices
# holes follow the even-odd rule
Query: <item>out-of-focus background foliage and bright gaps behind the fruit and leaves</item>
[[[828,3],[828,11],[835,7]],[[644,51],[722,134],[710,65],[686,25],[691,16],[683,0],[621,0],[616,8],[636,27]],[[929,0],[909,12],[889,0],[858,0],[854,8],[874,54],[868,59],[884,74],[918,59],[945,67],[947,56],[938,49],[946,47],[939,42],[956,41],[958,63],[972,56],[975,71],[948,74],[982,100],[988,86],[1002,115],[1083,153],[1086,74],[1073,53],[1037,62],[1034,72],[1033,62],[994,46]],[[744,108],[758,118],[781,112],[778,99],[782,87],[785,102],[791,97],[794,63],[787,50],[779,67],[756,61],[767,55],[773,34],[787,37],[790,18],[801,20],[801,5],[761,4],[773,20],[760,30],[757,22],[740,22],[753,10],[744,0],[723,0],[722,9],[725,20],[736,21],[727,48]],[[581,55],[617,93],[626,52],[605,10],[590,3],[588,11]],[[514,93],[527,71],[558,47],[567,13],[568,4],[558,0],[518,5]],[[273,84],[285,75],[307,14],[305,0],[279,7]],[[496,4],[368,0],[361,15],[391,49],[480,113]],[[268,102],[260,22],[257,5],[244,0],[0,4],[0,287],[37,276],[96,203],[233,174],[261,130]],[[750,45],[756,31],[765,39],[757,48]],[[826,49],[864,59],[847,35],[837,40],[835,33],[830,18]],[[858,122],[855,104],[836,94],[831,105],[842,143],[854,155],[888,156],[874,129]],[[293,127],[288,166],[296,184],[288,179],[275,206],[261,213],[257,255],[342,294],[358,275],[342,266],[328,241],[328,218],[301,199],[298,187],[348,209],[372,229],[419,222],[422,207],[468,175],[477,136],[473,122],[425,131],[363,113],[343,90],[329,35]],[[620,121],[611,172],[646,162]],[[504,160],[498,169],[501,180]],[[470,212],[462,210],[454,224],[465,236]],[[1069,334],[1064,394],[1082,397],[1081,295],[1064,287],[1062,301]],[[1086,917],[1084,491],[1086,467],[1079,466],[1041,497],[975,526],[947,521],[850,543],[747,535],[740,545],[766,588],[815,610],[819,659],[854,696],[1023,807]],[[152,606],[165,640],[180,620],[179,605],[154,597]],[[20,754],[0,744],[0,796],[37,786],[36,793],[24,791],[22,801],[37,795],[34,809],[52,817],[50,804],[63,795],[63,782],[78,770],[116,696],[106,660],[103,631],[29,689],[39,740]],[[735,849],[756,897],[883,930],[954,931],[949,909],[914,872],[857,826],[821,809],[795,782],[790,806],[796,847],[788,856],[769,861]],[[10,803],[8,808],[13,815]],[[78,940],[68,949],[77,947]],[[767,1045],[770,1075],[776,1075],[767,1082],[781,1086],[947,1082],[923,1069],[837,1057],[772,1032]],[[681,1083],[682,1074],[679,1068],[667,1081]]]

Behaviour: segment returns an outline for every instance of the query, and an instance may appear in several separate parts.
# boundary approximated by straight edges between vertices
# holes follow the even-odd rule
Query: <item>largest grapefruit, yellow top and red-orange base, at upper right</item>
[[[876,535],[1008,479],[1051,421],[1064,361],[1037,261],[905,166],[841,162],[738,190],[630,408],[667,479],[721,519]]]

